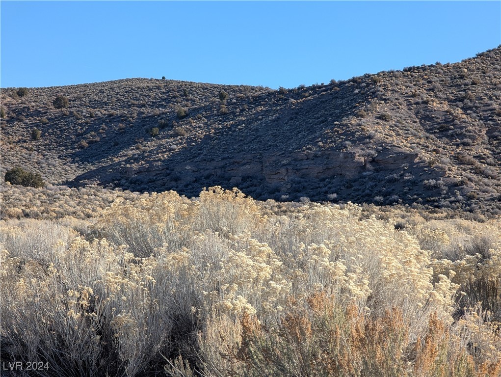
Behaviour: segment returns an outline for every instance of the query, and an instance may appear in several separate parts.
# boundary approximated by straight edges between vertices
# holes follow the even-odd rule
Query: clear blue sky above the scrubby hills
[[[6,87],[132,77],[263,85],[457,62],[501,44],[501,2],[8,2]]]

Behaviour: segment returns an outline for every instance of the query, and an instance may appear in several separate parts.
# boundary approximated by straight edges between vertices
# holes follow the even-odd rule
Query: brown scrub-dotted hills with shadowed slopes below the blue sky
[[[29,88],[23,97],[6,88],[2,181],[22,166],[52,191],[191,197],[220,185],[259,200],[498,215],[500,61],[498,47],[460,63],[280,90],[159,79]],[[54,108],[59,95],[67,108]],[[4,185],[4,196],[16,190],[27,189]]]

